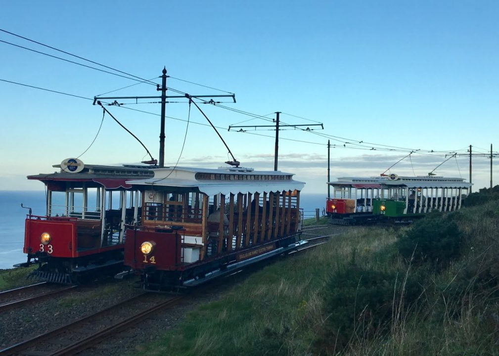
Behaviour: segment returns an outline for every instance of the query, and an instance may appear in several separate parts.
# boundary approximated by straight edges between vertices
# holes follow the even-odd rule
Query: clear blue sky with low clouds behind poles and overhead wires
[[[339,145],[331,150],[332,178],[379,175],[409,151],[340,148],[353,140],[447,153],[466,153],[469,145],[486,152],[491,143],[499,145],[497,1],[3,0],[1,8],[4,30],[146,79],[166,66],[172,77],[236,93],[237,103],[225,104],[235,109],[259,115],[281,111],[324,123],[321,133],[348,139],[331,141]],[[64,56],[3,32],[0,40]],[[1,42],[0,56],[0,79],[84,97],[134,84]],[[193,95],[223,94],[173,78],[168,86]],[[0,189],[41,189],[25,176],[52,172],[51,165],[79,156],[102,119],[101,109],[83,99],[5,82],[0,95]],[[109,95],[157,92],[140,84]],[[160,112],[159,104],[128,107]],[[251,119],[202,108],[219,127]],[[158,157],[157,116],[109,110]],[[169,104],[167,115],[187,120],[188,106]],[[205,123],[194,108],[189,119]],[[284,114],[281,120],[311,123]],[[251,124],[268,123],[253,119],[241,125]],[[166,164],[179,158],[186,125],[167,120]],[[221,134],[244,166],[272,169],[271,137]],[[305,192],[326,192],[327,138],[301,131],[279,136],[279,168],[307,182]],[[405,160],[391,172],[424,175],[445,154],[414,154],[412,165]],[[144,155],[106,116],[81,160],[132,163]],[[180,165],[218,167],[227,158],[210,128],[189,125]],[[475,187],[489,185],[489,164],[485,157],[474,158]],[[437,173],[468,177],[468,158],[450,160]]]

